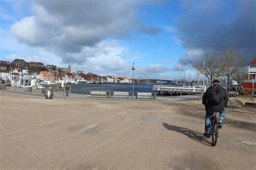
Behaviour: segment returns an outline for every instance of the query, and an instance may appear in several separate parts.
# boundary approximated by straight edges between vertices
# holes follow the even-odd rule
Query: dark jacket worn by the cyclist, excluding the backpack
[[[211,93],[211,91],[213,90],[214,86],[219,86],[219,84],[214,84],[213,86],[209,87],[203,95],[202,103],[205,104],[205,110],[206,110],[207,115],[212,115],[214,112],[223,111],[225,109],[225,107],[227,106],[227,102],[228,102],[226,89],[224,89],[223,87],[220,87],[220,86],[219,86],[219,89],[220,89],[219,93],[220,93],[220,97],[221,97],[220,104],[213,105],[212,103],[207,102],[208,96]]]

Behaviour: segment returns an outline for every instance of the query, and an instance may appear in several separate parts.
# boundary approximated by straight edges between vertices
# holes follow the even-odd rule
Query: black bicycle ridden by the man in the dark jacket
[[[211,116],[210,129],[211,129],[210,133],[212,136],[212,146],[215,146],[217,144],[218,135],[219,135],[219,121],[218,121],[216,112]]]

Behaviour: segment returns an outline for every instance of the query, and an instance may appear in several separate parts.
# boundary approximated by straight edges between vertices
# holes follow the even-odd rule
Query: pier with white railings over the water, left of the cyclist
[[[153,85],[152,92],[170,95],[195,95],[204,94],[206,86],[171,86],[171,85]]]

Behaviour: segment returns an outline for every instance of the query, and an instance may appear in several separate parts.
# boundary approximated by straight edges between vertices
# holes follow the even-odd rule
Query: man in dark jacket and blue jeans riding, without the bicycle
[[[209,87],[203,95],[202,103],[205,105],[205,133],[204,136],[210,138],[210,118],[214,112],[219,112],[219,129],[222,127],[225,117],[225,107],[227,107],[228,96],[226,89],[220,87],[218,79],[213,80],[213,86]]]

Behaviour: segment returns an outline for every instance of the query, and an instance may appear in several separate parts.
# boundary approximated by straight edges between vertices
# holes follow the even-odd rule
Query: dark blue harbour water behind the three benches
[[[126,91],[132,95],[132,84],[69,84],[71,92],[77,94],[90,94],[91,91]],[[150,84],[134,84],[134,95],[137,92],[152,92]]]

